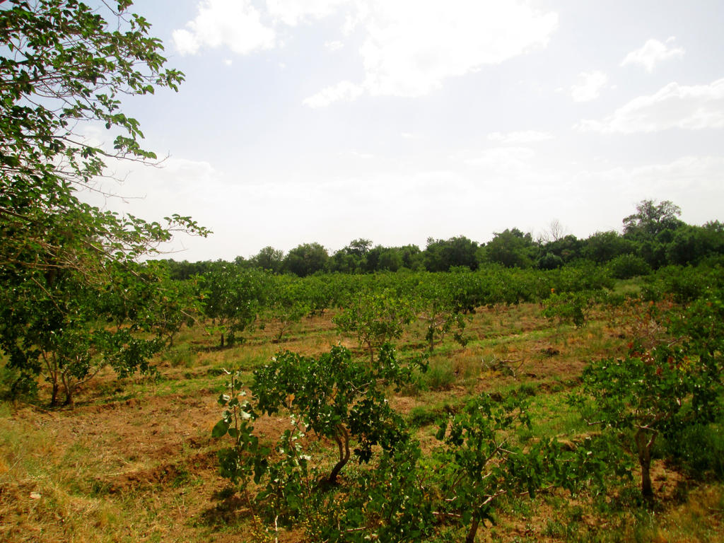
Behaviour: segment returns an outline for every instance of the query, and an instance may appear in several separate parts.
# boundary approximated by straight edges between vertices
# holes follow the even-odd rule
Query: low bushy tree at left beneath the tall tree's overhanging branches
[[[195,308],[193,295],[157,267],[137,266],[138,275],[111,272],[116,281],[102,290],[70,270],[43,288],[19,282],[0,290],[0,348],[9,366],[26,382],[35,376],[49,382],[51,405],[61,392],[72,405],[76,390],[106,364],[121,376],[150,369],[148,359],[170,344]]]

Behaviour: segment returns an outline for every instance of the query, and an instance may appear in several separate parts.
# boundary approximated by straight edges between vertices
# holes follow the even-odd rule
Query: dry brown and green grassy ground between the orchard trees
[[[365,356],[337,332],[334,315],[302,319],[281,342],[274,340],[281,324],[270,321],[224,349],[203,327],[183,329],[156,359],[155,375],[119,380],[101,372],[77,393],[73,408],[41,407],[45,389],[41,406],[1,404],[0,539],[313,540],[304,526],[275,529],[264,522],[243,492],[219,476],[216,451],[224,439],[212,439],[211,429],[222,413],[216,400],[225,390],[225,369],[241,369],[248,382],[279,350],[316,356],[340,342]],[[480,392],[528,397],[532,437],[570,439],[591,431],[565,399],[581,383],[586,363],[625,355],[620,322],[594,310],[588,324],[576,328],[545,319],[534,303],[479,308],[466,319],[467,345],[447,339],[437,345],[428,371],[390,400],[416,429],[423,450],[434,447],[435,421]],[[424,330],[416,325],[396,344],[402,355],[424,345]],[[256,432],[272,442],[288,424],[287,416],[265,416]],[[331,466],[327,450],[334,445],[309,439],[319,463]],[[605,493],[551,489],[532,500],[504,496],[496,523],[483,523],[476,541],[724,541],[724,485],[683,470],[664,450],[654,458],[653,504],[641,500],[634,468],[632,479],[612,479]],[[339,487],[365,469],[350,461]],[[465,532],[441,521],[426,541],[460,541]]]

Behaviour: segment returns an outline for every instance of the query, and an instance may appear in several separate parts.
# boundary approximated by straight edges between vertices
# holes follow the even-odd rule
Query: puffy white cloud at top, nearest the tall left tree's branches
[[[249,54],[273,47],[275,34],[261,22],[250,0],[203,0],[195,19],[186,23],[186,28],[174,30],[172,37],[182,55],[220,46]]]

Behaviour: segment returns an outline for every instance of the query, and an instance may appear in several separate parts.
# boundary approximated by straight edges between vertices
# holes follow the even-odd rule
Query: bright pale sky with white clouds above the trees
[[[351,240],[724,220],[720,0],[138,0],[179,91],[125,100],[160,167],[111,164],[175,260]],[[93,132],[96,130],[96,132]],[[104,134],[88,128],[91,138]]]

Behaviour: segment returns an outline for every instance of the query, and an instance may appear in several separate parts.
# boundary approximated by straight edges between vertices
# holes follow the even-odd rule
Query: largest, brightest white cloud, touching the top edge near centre
[[[516,1],[373,0],[357,7],[346,25],[365,35],[366,75],[356,88],[372,96],[425,96],[447,77],[546,46],[558,21]]]

